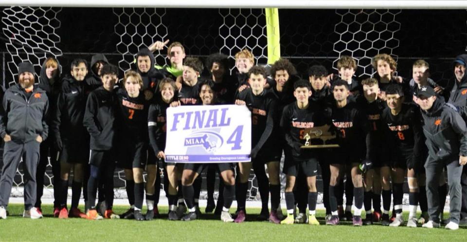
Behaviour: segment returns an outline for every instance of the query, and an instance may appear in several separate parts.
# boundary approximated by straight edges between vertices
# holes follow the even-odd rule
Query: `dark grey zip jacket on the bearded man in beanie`
[[[9,134],[13,141],[20,143],[33,141],[37,135],[40,135],[42,140],[47,139],[49,127],[46,117],[49,99],[44,90],[35,87],[28,98],[19,84],[14,85],[6,90],[2,106],[1,138]]]

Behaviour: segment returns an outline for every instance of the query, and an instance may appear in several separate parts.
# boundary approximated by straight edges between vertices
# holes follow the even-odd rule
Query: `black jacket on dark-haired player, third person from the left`
[[[56,140],[87,142],[89,134],[83,126],[83,118],[88,95],[95,88],[90,85],[89,78],[83,81],[71,76],[63,78],[51,124]]]

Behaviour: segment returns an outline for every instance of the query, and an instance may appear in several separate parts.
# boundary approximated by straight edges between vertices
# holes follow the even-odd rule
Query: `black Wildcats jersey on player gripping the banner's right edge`
[[[254,95],[251,88],[238,95],[251,111],[251,150],[259,151],[268,141],[274,127],[276,97],[270,90]]]

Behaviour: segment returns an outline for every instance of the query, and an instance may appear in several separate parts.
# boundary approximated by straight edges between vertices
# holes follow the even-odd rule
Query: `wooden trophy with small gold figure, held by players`
[[[305,145],[302,149],[323,149],[323,148],[338,148],[339,145],[336,143],[336,134],[330,131],[329,125],[323,125],[313,127],[311,129],[305,129],[305,135],[303,136]]]

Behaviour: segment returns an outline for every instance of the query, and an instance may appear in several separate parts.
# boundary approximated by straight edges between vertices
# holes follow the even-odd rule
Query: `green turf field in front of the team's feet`
[[[222,223],[213,214],[203,214],[192,222],[168,221],[167,207],[160,208],[162,218],[153,221],[84,219],[59,220],[51,217],[52,206],[43,206],[44,219],[24,219],[22,205],[10,205],[10,216],[0,220],[0,241],[37,242],[295,242],[295,241],[352,241],[352,242],[466,242],[467,227],[457,231],[444,228],[407,228],[371,225],[353,227],[351,223],[339,226],[310,226],[308,224],[280,225],[254,222],[258,209],[248,209],[250,221],[235,224]],[[126,207],[115,207],[123,213]],[[232,209],[234,211],[234,209]],[[324,211],[318,211],[324,223]]]

